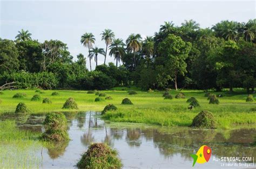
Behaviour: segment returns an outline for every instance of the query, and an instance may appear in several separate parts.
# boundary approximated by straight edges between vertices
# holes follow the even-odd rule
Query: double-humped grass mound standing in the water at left
[[[63,113],[51,112],[46,114],[44,125],[47,130],[42,134],[43,140],[65,141],[69,139],[66,131],[68,123]]]

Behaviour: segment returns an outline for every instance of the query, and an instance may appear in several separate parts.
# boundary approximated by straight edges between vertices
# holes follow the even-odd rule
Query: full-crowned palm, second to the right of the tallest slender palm
[[[126,40],[127,49],[133,52],[134,68],[136,67],[135,54],[142,48],[142,37],[139,34],[132,33]]]

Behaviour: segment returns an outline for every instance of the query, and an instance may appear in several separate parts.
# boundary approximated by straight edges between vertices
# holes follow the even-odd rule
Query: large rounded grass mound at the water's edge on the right
[[[204,110],[201,111],[199,114],[197,114],[196,117],[194,117],[192,122],[192,127],[201,127],[205,129],[214,129],[215,128],[215,119],[212,115],[212,113]]]

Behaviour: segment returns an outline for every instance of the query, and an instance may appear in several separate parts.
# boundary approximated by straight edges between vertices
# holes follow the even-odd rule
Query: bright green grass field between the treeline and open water
[[[116,87],[109,91],[100,91],[106,96],[111,96],[112,100],[103,102],[95,102],[98,97],[95,94],[87,94],[87,91],[68,91],[59,90],[59,96],[51,96],[52,90],[45,90],[39,93],[42,98],[50,98],[52,104],[42,104],[42,100],[38,102],[31,101],[34,94],[38,94],[35,90],[13,90],[3,91],[0,95],[2,103],[0,104],[0,114],[15,112],[19,102],[24,102],[32,113],[45,113],[51,111],[77,111],[63,110],[62,106],[65,100],[72,97],[76,100],[79,111],[102,111],[107,104],[114,104],[118,107],[117,111],[109,111],[104,115],[105,119],[111,121],[133,122],[155,124],[161,126],[189,126],[192,119],[201,111],[208,110],[213,113],[217,120],[217,128],[231,129],[234,125],[252,125],[256,124],[256,112],[251,111],[256,107],[256,101],[245,102],[247,94],[244,90],[235,90],[230,94],[227,91],[211,92],[214,94],[223,94],[219,98],[219,105],[208,104],[209,100],[204,97],[204,92],[199,90],[183,90],[185,99],[176,99],[174,96],[179,91],[170,91],[173,99],[168,100],[162,97],[163,91],[142,92],[129,95],[126,87]],[[132,90],[136,90],[135,88]],[[16,93],[26,93],[24,98],[12,98]],[[256,94],[253,94],[254,98]],[[200,104],[193,110],[188,110],[186,100],[195,97]],[[122,99],[130,98],[133,105],[122,105]]]

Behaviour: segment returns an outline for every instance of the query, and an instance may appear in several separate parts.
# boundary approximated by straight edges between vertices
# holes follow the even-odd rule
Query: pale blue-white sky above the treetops
[[[15,39],[21,29],[29,30],[39,42],[58,39],[68,45],[76,60],[88,56],[80,44],[85,32],[95,35],[94,46],[105,50],[100,33],[111,29],[125,42],[131,33],[152,36],[165,21],[180,26],[193,19],[201,28],[223,20],[247,22],[254,19],[255,1],[2,1],[0,0],[0,37]],[[106,62],[114,62],[107,56]],[[98,64],[104,56],[98,56]],[[115,62],[114,62],[115,63]],[[92,68],[96,63],[92,62]],[[87,59],[89,67],[89,59]]]

